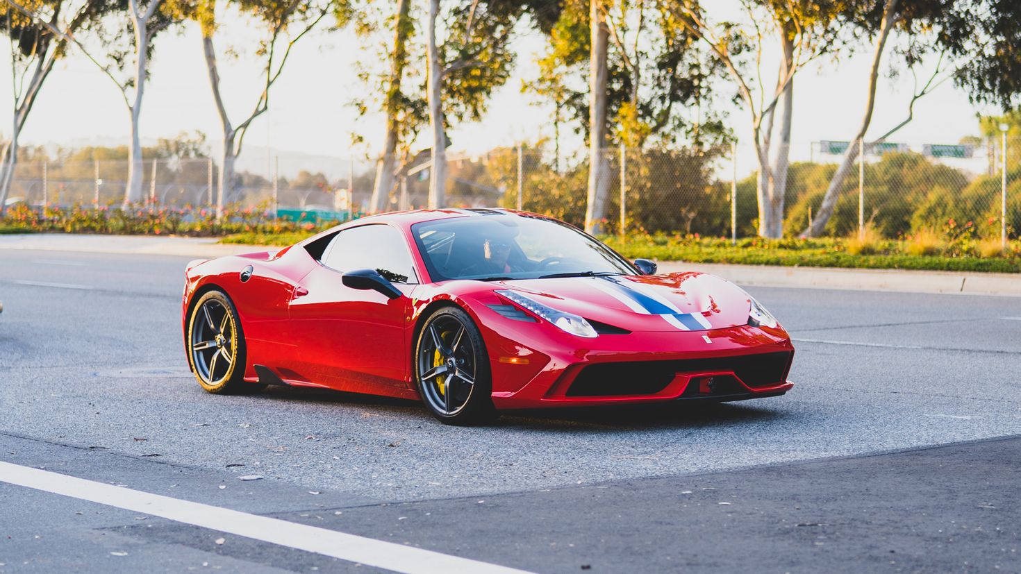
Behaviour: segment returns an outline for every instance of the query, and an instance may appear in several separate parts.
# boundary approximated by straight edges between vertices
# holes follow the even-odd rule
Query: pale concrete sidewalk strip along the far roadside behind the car
[[[216,238],[27,233],[0,236],[0,252],[7,249],[22,249],[212,258],[278,249],[249,245],[223,245],[216,243],[217,241]],[[675,271],[703,271],[747,286],[1021,297],[1021,273],[833,269],[827,267],[685,263],[683,261],[660,262],[660,272]]]

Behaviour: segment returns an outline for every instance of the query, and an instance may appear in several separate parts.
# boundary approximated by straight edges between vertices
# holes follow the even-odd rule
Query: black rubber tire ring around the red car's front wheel
[[[426,389],[423,388],[422,377],[420,376],[420,355],[422,353],[423,342],[427,333],[429,325],[433,323],[437,318],[444,315],[451,315],[456,318],[463,325],[465,325],[465,334],[471,337],[472,345],[476,349],[476,360],[475,360],[475,385],[472,389],[472,395],[468,400],[468,404],[465,405],[460,411],[453,415],[447,415],[441,413],[433,408],[426,399]],[[488,422],[496,417],[496,409],[493,407],[492,400],[492,370],[489,365],[489,353],[486,351],[486,343],[482,337],[482,331],[479,329],[478,325],[472,319],[472,316],[468,314],[467,311],[460,307],[447,306],[437,309],[422,323],[422,328],[419,329],[418,341],[415,344],[415,355],[412,359],[412,374],[415,376],[415,387],[419,392],[419,396],[422,398],[423,404],[426,409],[434,417],[446,424],[454,425],[467,425],[467,424],[479,424],[483,422]]]

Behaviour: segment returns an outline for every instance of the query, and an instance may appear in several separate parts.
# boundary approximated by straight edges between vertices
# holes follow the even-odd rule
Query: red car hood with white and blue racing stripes
[[[737,285],[699,272],[506,280],[561,311],[630,331],[708,330],[744,325],[751,303]],[[495,286],[495,285],[494,285]]]

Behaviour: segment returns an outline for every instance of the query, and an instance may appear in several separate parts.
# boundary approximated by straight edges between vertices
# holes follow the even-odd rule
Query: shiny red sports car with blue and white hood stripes
[[[534,213],[444,209],[188,265],[188,363],[209,393],[268,384],[499,410],[783,395],[794,349],[736,285],[657,275]]]

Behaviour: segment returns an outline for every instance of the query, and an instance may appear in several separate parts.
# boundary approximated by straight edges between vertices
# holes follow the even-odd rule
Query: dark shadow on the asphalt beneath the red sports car
[[[333,403],[379,409],[417,420],[432,421],[419,401],[394,399],[320,388],[271,386],[263,399],[297,403]],[[782,399],[777,399],[782,401]],[[657,428],[702,428],[778,422],[792,416],[776,403],[760,405],[758,401],[735,403],[694,403],[677,401],[645,405],[610,407],[578,407],[572,409],[533,409],[505,411],[495,422],[482,428],[521,429],[537,431],[637,430]],[[770,408],[774,407],[774,408]],[[437,422],[437,424],[439,424]]]

